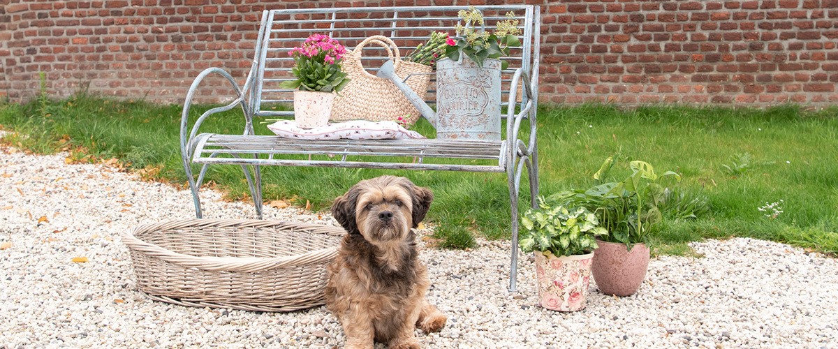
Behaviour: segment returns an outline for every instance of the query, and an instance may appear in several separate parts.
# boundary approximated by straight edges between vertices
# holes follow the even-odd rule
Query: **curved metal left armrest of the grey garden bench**
[[[229,73],[227,73],[224,69],[215,68],[215,67],[207,68],[207,69],[204,69],[204,71],[202,71],[200,74],[198,74],[198,77],[196,77],[195,80],[192,82],[192,85],[189,86],[189,92],[187,92],[186,100],[184,101],[184,112],[183,112],[183,114],[181,115],[181,118],[180,118],[180,151],[181,151],[181,155],[184,157],[184,162],[186,161],[186,159],[189,159],[189,157],[192,156],[192,154],[191,154],[192,148],[193,148],[192,143],[194,141],[195,135],[198,134],[199,127],[201,126],[202,123],[204,123],[204,120],[209,115],[220,113],[222,111],[227,111],[227,110],[235,108],[236,105],[241,105],[241,110],[245,115],[245,131],[244,131],[244,134],[245,135],[252,135],[253,134],[253,115],[251,113],[252,110],[250,110],[245,96],[246,96],[247,92],[250,90],[251,78],[255,76],[253,74],[255,69],[256,69],[256,64],[253,64],[253,67],[251,68],[250,73],[247,74],[247,79],[246,79],[245,85],[241,88],[235,82],[233,77]],[[230,85],[232,85],[233,91],[235,92],[236,98],[235,98],[235,100],[230,102],[230,104],[228,104],[228,105],[215,107],[215,108],[212,108],[210,110],[204,111],[204,114],[200,115],[198,120],[195,121],[194,125],[192,125],[192,127],[189,128],[189,110],[192,108],[192,99],[194,97],[195,91],[198,90],[198,86],[204,80],[204,78],[206,78],[209,74],[213,74],[213,73],[220,74],[223,78],[225,78],[227,81],[230,82]],[[189,133],[187,133],[188,130],[189,130]]]

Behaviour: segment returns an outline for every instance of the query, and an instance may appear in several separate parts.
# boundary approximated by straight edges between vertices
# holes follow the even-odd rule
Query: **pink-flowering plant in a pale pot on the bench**
[[[295,62],[294,79],[283,81],[280,87],[294,90],[294,121],[300,128],[328,125],[334,95],[349,83],[340,65],[344,54],[344,45],[323,34],[313,34],[288,51]]]

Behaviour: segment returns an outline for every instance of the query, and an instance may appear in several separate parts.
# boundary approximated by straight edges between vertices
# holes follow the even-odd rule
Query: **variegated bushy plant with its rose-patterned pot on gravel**
[[[551,206],[539,198],[540,208],[521,217],[520,248],[535,254],[535,275],[541,306],[553,311],[585,308],[591,278],[591,259],[597,236],[608,234],[587,208]]]

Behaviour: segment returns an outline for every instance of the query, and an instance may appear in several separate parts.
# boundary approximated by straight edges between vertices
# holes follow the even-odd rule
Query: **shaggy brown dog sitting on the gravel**
[[[328,267],[326,307],[344,326],[346,347],[417,348],[418,326],[442,330],[446,316],[425,299],[431,280],[417,259],[416,228],[433,194],[403,177],[382,176],[355,184],[332,205],[349,233]]]

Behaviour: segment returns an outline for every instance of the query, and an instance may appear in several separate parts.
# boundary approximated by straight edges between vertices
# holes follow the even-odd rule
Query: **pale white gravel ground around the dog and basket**
[[[194,217],[189,192],[100,165],[65,165],[65,156],[0,149],[0,347],[344,344],[323,307],[256,313],[144,298],[119,234]],[[207,218],[255,218],[251,205],[225,203],[218,192],[204,192],[204,208]],[[266,208],[266,218],[334,223],[298,208]],[[704,258],[653,259],[638,294],[615,298],[592,285],[587,309],[566,314],[536,305],[531,259],[520,261],[520,292],[505,290],[508,244],[422,249],[428,297],[448,316],[442,332],[417,332],[423,346],[838,347],[838,261],[820,254],[707,240],[692,244]]]

